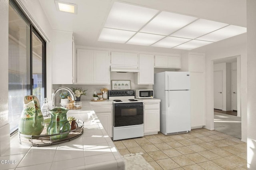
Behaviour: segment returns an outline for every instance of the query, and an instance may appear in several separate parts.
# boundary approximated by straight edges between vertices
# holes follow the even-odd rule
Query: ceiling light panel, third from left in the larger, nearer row
[[[218,30],[224,26],[228,26],[228,24],[199,19],[177,32],[174,32],[171,36],[194,39]]]

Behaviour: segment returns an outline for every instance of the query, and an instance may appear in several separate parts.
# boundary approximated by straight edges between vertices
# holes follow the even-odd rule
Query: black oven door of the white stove
[[[143,103],[114,103],[114,127],[143,124]]]

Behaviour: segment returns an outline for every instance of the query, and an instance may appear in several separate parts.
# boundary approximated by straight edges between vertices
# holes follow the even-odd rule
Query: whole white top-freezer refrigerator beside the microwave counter
[[[165,71],[154,74],[154,98],[160,102],[160,132],[165,135],[191,130],[190,73]]]

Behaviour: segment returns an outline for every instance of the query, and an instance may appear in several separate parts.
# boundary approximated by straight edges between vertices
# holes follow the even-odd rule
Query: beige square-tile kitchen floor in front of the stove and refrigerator
[[[246,143],[215,130],[114,141],[121,155],[143,152],[156,170],[246,170]]]

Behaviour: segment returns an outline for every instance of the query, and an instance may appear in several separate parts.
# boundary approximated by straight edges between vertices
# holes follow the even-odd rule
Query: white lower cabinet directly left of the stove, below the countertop
[[[112,123],[112,103],[104,104],[101,103],[90,103],[91,108],[96,113],[100,123],[108,133],[109,137],[112,137],[113,123]]]

